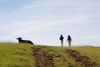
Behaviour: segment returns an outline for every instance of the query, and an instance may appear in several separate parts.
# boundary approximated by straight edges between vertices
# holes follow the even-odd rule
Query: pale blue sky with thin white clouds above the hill
[[[0,0],[0,42],[100,46],[100,0]]]

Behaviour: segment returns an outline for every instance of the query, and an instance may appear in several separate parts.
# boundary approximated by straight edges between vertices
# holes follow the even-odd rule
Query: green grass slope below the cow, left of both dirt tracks
[[[0,67],[35,67],[33,45],[0,43]]]

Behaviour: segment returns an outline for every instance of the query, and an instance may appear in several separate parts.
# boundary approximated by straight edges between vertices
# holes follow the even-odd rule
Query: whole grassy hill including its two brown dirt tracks
[[[100,47],[0,43],[0,67],[100,67]]]

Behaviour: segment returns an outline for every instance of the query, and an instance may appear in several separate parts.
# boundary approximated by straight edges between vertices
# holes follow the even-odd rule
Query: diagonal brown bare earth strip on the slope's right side
[[[66,53],[68,53],[70,56],[75,58],[76,62],[81,62],[81,65],[85,65],[85,67],[97,67],[97,63],[94,61],[91,61],[86,56],[81,56],[77,51],[67,49]]]

